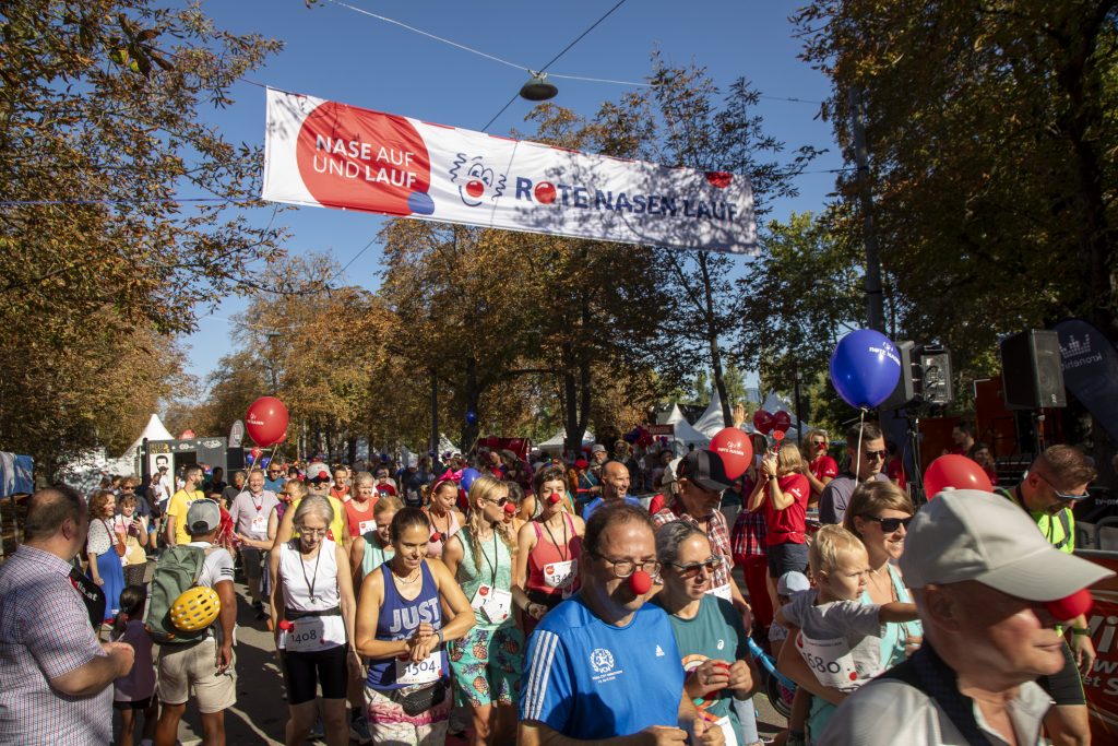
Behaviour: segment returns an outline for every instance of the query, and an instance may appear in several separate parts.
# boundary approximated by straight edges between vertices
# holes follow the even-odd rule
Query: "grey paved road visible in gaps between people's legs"
[[[240,583],[237,584],[237,595],[240,599],[236,646],[237,706],[226,711],[226,738],[230,746],[282,745],[287,700],[284,698],[283,677],[276,663],[272,633],[264,622],[256,621],[247,602],[248,591]],[[771,736],[784,727],[784,718],[764,695],[758,695],[754,701],[760,711],[762,735]],[[116,728],[119,731],[119,719]],[[183,746],[201,743],[201,723],[191,705],[187,706],[187,715],[179,726],[179,740]]]

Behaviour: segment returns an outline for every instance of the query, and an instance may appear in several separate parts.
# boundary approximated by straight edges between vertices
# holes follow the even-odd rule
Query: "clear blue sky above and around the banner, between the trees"
[[[560,4],[475,0],[347,0],[347,4],[473,47],[525,68],[538,68],[601,17],[616,0]],[[334,0],[306,8],[302,0],[203,0],[202,10],[219,28],[281,39],[285,48],[249,75],[256,83],[311,94],[366,108],[481,130],[527,79],[522,70],[463,51],[398,26],[377,20]],[[643,81],[650,55],[660,49],[669,64],[708,67],[723,89],[745,76],[762,95],[758,110],[769,132],[790,148],[812,144],[830,152],[800,177],[800,196],[775,205],[771,215],[818,210],[842,168],[830,123],[815,119],[827,79],[796,58],[800,44],[787,17],[797,3],[768,0],[627,0],[568,51],[551,73],[618,81]],[[591,116],[625,86],[553,81],[552,103]],[[202,112],[235,142],[263,143],[265,92],[250,83],[231,91],[236,104]],[[531,104],[518,100],[489,132],[530,130],[523,122]],[[271,210],[267,210],[271,215]],[[260,219],[266,219],[262,215]],[[291,254],[330,252],[349,263],[377,234],[382,218],[368,214],[303,207],[280,216],[291,233]],[[371,246],[337,283],[376,289],[380,247]],[[189,346],[188,372],[205,379],[230,346],[229,319],[247,302],[227,299],[199,321]]]

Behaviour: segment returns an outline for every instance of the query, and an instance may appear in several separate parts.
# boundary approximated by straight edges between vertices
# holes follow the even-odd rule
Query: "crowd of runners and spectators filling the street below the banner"
[[[1071,554],[1082,454],[918,512],[875,424],[841,465],[821,431],[755,438],[732,479],[619,441],[41,490],[0,566],[0,743],[171,746],[192,705],[224,744],[238,603],[274,635],[291,745],[766,743],[750,638],[797,686],[781,743],[1089,742],[1090,631],[1051,606],[1108,575]],[[170,629],[169,587],[212,613]]]

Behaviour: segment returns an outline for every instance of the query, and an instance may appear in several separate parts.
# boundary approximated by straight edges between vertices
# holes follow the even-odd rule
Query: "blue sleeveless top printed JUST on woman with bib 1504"
[[[377,620],[377,640],[407,640],[426,622],[437,632],[443,629],[443,607],[438,601],[438,587],[427,567],[427,561],[419,566],[423,574],[423,586],[419,595],[408,601],[400,596],[392,580],[392,570],[386,563],[380,566],[385,576],[385,603],[380,606]],[[373,570],[376,572],[376,570]],[[439,651],[442,678],[449,677],[451,667],[446,660],[446,645]],[[400,689],[404,684],[396,682],[397,659],[375,659],[369,661],[369,676],[366,683],[373,689]]]

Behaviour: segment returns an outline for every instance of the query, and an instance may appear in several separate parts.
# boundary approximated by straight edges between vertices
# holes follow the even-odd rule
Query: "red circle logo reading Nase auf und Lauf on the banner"
[[[402,116],[326,102],[311,112],[295,147],[306,190],[329,207],[430,215],[430,155]]]

